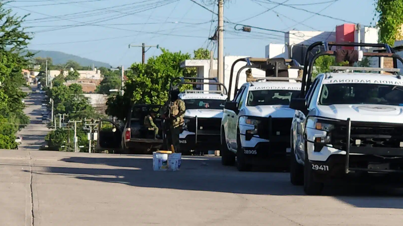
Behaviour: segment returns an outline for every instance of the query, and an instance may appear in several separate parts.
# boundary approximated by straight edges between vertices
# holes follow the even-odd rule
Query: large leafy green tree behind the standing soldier
[[[163,105],[168,99],[171,78],[189,76],[180,63],[191,58],[189,53],[170,52],[161,49],[162,54],[147,60],[147,64],[132,64],[127,72],[125,95],[110,97],[107,101],[106,113],[124,119],[130,103]],[[191,75],[190,75],[191,76]],[[188,88],[182,86],[181,88]]]

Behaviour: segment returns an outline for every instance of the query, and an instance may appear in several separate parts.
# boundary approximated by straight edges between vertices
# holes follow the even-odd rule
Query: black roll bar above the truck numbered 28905
[[[285,58],[240,58],[238,60],[235,60],[231,66],[231,72],[230,72],[230,78],[229,78],[229,89],[228,93],[231,94],[232,90],[232,81],[233,81],[233,74],[234,74],[234,68],[235,64],[238,62],[246,62],[246,66],[243,66],[241,69],[238,70],[237,77],[235,80],[235,92],[234,96],[238,92],[238,84],[239,84],[239,75],[241,74],[241,71],[244,70],[245,68],[258,68],[260,70],[266,71],[266,77],[278,77],[278,70],[288,70],[288,69],[302,69],[301,65],[297,62],[297,60],[294,59],[285,59]],[[285,63],[288,63],[289,65],[286,65]],[[268,72],[274,72],[274,76],[268,76]],[[229,95],[227,101],[231,95]]]

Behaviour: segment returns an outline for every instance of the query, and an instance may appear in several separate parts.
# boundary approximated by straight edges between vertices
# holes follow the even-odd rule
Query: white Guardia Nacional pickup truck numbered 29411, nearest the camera
[[[330,45],[384,47],[387,53],[359,51],[358,55],[391,57],[395,66],[396,60],[403,63],[385,44],[313,45],[321,44],[325,49],[330,49]],[[312,45],[307,54],[311,49]],[[399,69],[334,66],[330,70],[337,73],[318,74],[311,85],[314,61],[321,55],[338,58],[339,54],[343,52],[322,51],[309,64],[305,62],[301,95],[290,103],[295,109],[291,127],[291,183],[303,185],[308,195],[319,195],[324,183],[335,179],[353,178],[358,182],[370,177],[371,183],[379,180],[401,185],[403,82],[397,74]],[[355,60],[349,59],[350,64]],[[392,74],[379,74],[382,71]],[[395,175],[398,179],[391,179]]]

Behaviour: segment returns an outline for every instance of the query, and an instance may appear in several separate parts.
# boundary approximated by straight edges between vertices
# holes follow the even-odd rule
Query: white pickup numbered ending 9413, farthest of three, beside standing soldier
[[[183,153],[203,155],[220,149],[222,109],[227,99],[220,90],[185,90],[179,94],[185,102],[183,132],[179,143]]]

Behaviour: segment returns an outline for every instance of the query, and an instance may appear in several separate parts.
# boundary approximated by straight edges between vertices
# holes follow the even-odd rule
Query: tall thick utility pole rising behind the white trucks
[[[224,83],[224,0],[218,0],[218,82]],[[231,94],[229,94],[231,95]]]

